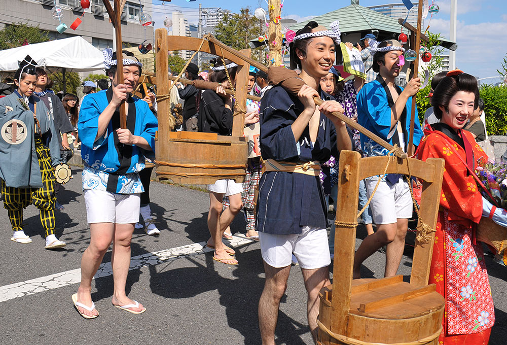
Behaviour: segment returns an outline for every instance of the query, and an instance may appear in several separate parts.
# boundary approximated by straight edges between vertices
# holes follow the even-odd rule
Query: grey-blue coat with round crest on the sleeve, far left
[[[34,110],[39,125],[36,125],[33,119]],[[13,137],[14,124],[16,138]],[[8,187],[42,188],[35,135],[40,136],[44,145],[49,148],[51,164],[55,166],[61,162],[61,140],[56,134],[58,131],[44,102],[32,95],[28,97],[27,105],[17,91],[0,98],[0,128],[0,179],[4,180]]]

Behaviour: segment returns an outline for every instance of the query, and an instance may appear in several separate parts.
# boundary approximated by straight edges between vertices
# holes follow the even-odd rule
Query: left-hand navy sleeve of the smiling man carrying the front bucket
[[[272,88],[262,98],[260,141],[263,158],[283,161],[299,156],[299,144],[291,127],[297,118],[294,108],[294,102],[281,87]]]

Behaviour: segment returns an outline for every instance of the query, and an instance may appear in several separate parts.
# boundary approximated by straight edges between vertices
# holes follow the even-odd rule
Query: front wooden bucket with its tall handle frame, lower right
[[[340,153],[334,279],[332,286],[320,291],[320,344],[438,343],[444,298],[435,292],[434,284],[428,285],[434,232],[426,243],[416,240],[410,283],[403,282],[401,275],[352,280],[359,181],[382,175],[386,165],[388,174],[423,180],[419,225],[422,221],[431,229],[436,227],[443,159],[361,159],[357,152]]]

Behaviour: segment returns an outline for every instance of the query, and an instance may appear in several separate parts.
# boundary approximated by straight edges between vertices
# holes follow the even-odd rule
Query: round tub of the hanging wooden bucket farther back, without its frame
[[[155,150],[157,181],[206,185],[216,180],[240,183],[245,179],[248,143],[244,137],[171,132],[165,145],[156,140]]]

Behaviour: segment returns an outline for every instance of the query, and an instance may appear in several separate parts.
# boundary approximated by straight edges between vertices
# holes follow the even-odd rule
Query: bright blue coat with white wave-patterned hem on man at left
[[[120,128],[119,108],[107,125],[104,135],[95,141],[98,117],[112,97],[113,89],[109,88],[107,91],[87,95],[81,105],[78,131],[82,142],[81,156],[86,165],[86,174],[83,171],[83,188],[102,189],[119,194],[140,192],[142,185],[139,185],[137,173],[144,168],[144,156],[153,158],[154,151],[145,151],[136,145],[123,145],[118,141],[116,129]],[[152,150],[155,150],[157,118],[148,103],[141,99],[129,97],[128,105],[127,129],[133,135],[142,136]],[[90,178],[93,175],[95,177]]]

